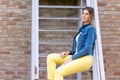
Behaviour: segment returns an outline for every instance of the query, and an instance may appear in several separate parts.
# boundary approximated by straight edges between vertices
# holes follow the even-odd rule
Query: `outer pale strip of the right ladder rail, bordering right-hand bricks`
[[[95,21],[97,24],[97,44],[98,44],[98,50],[99,50],[99,54],[98,54],[98,58],[99,58],[99,67],[100,67],[100,77],[101,80],[105,80],[105,71],[104,71],[104,61],[103,61],[103,51],[102,51],[102,41],[101,41],[101,34],[100,34],[100,24],[99,24],[99,16],[98,16],[98,6],[97,6],[97,1],[93,0],[94,2],[94,9],[95,9]],[[95,4],[96,3],[96,4]]]

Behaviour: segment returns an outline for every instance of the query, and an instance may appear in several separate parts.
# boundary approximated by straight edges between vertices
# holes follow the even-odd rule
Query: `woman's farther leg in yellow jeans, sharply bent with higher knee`
[[[69,59],[71,56],[68,55],[65,58],[61,58],[60,54],[52,53],[49,54],[47,57],[47,74],[48,74],[48,80],[54,80],[54,73],[56,70],[56,65],[61,65]]]

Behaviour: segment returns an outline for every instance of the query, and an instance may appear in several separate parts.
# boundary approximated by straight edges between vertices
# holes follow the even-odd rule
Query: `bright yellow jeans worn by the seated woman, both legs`
[[[61,58],[60,54],[52,53],[47,56],[48,80],[63,80],[64,76],[90,69],[93,64],[93,56],[84,56],[62,65],[72,55]],[[57,65],[62,65],[56,69]]]

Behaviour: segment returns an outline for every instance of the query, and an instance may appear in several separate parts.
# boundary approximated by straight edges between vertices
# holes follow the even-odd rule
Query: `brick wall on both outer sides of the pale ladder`
[[[106,80],[120,79],[120,0],[98,0]],[[0,0],[0,80],[30,79],[31,0]]]

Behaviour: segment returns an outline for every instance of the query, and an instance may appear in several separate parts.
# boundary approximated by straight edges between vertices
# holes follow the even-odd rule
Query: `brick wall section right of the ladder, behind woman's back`
[[[120,0],[98,0],[106,80],[120,80]]]

